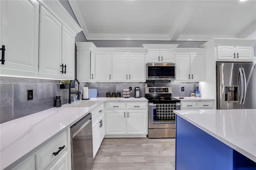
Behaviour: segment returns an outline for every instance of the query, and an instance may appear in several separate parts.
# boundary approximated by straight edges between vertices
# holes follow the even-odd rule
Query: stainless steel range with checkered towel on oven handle
[[[148,138],[175,138],[175,113],[180,100],[172,97],[172,87],[145,87],[148,99]]]

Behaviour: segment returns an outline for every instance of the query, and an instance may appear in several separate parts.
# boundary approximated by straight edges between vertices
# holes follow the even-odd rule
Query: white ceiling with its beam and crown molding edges
[[[69,0],[87,40],[246,38],[256,0]]]

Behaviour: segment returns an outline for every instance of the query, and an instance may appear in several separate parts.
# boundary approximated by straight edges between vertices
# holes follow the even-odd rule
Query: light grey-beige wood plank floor
[[[174,170],[175,138],[104,138],[93,170]]]

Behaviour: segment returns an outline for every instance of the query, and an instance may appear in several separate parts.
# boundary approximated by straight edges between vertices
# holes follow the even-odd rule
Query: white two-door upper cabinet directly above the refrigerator
[[[217,46],[217,61],[252,61],[252,47]]]

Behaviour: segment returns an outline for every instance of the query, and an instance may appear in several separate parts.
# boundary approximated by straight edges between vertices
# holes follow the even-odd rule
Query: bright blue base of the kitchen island
[[[176,170],[256,170],[256,162],[176,115]]]

